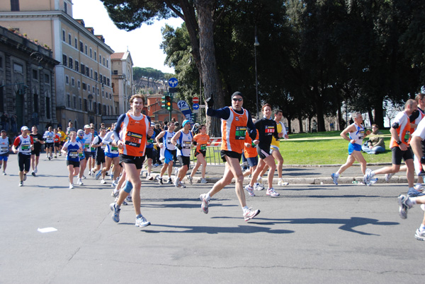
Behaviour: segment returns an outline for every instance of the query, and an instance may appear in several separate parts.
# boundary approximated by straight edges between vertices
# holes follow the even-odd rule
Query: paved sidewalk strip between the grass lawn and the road
[[[380,167],[390,166],[391,163],[374,163],[368,164],[368,168],[377,170]],[[282,177],[284,182],[289,184],[333,184],[331,179],[331,173],[339,170],[341,165],[283,165]],[[191,169],[193,165],[191,165]],[[188,174],[191,173],[191,169],[188,170]],[[161,167],[152,168],[154,177],[159,174]],[[208,184],[214,184],[225,171],[224,165],[207,165],[205,179]],[[142,175],[146,177],[145,168],[142,171]],[[167,174],[165,174],[166,176]],[[174,170],[173,170],[174,175]],[[266,175],[263,177],[263,183],[266,182]],[[397,172],[390,179],[390,182],[385,182],[385,176],[383,174],[377,175],[378,184],[402,184],[407,183],[406,172]],[[193,177],[193,183],[200,182],[200,169],[196,172]],[[244,184],[249,183],[249,178],[244,179]],[[273,184],[278,183],[278,172],[276,171],[273,177]],[[338,184],[360,184],[363,183],[363,174],[359,164],[354,164],[341,174],[338,179]]]

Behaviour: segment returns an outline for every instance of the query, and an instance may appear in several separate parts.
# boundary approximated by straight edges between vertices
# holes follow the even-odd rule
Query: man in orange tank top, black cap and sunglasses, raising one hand
[[[221,157],[226,162],[225,173],[222,179],[214,184],[214,187],[208,194],[201,194],[199,196],[202,201],[203,213],[208,213],[208,204],[212,196],[217,194],[226,185],[235,180],[235,191],[242,206],[244,220],[248,221],[260,213],[259,210],[251,210],[246,206],[245,193],[244,193],[244,174],[242,173],[239,161],[242,157],[242,150],[244,149],[245,132],[249,130],[249,136],[255,138],[256,128],[252,123],[251,115],[247,110],[242,108],[244,99],[242,93],[235,92],[232,95],[232,107],[223,107],[219,110],[214,110],[214,102],[212,97],[207,100],[207,115],[210,117],[219,117],[222,121],[222,147]]]

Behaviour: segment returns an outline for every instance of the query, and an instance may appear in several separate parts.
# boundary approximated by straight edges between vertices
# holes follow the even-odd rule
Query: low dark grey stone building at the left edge
[[[21,126],[57,124],[52,51],[14,30],[0,27],[0,114],[9,135]]]

